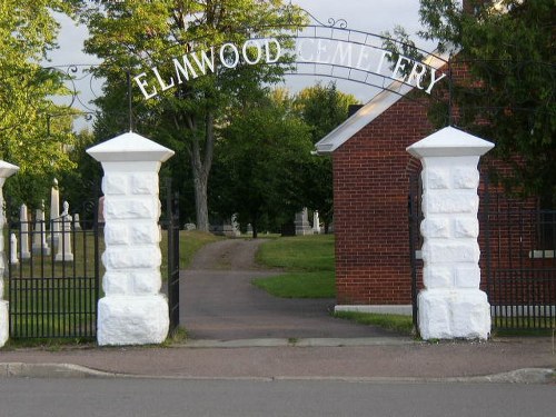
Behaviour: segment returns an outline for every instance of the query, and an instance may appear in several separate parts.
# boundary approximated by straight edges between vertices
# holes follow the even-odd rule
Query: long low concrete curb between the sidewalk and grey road
[[[474,377],[191,377],[191,376],[149,376],[115,374],[87,368],[72,364],[0,364],[1,378],[133,378],[133,379],[183,379],[183,380],[260,380],[260,381],[287,381],[287,380],[335,380],[346,383],[479,383],[479,384],[554,384],[556,383],[556,370],[550,368],[524,368],[508,373],[500,373]]]

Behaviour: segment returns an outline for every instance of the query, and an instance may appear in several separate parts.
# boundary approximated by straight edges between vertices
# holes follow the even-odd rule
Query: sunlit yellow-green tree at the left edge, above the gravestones
[[[0,3],[0,158],[20,167],[7,185],[18,203],[37,205],[57,172],[71,169],[71,109],[54,105],[67,95],[64,75],[41,62],[56,48],[51,11],[70,12],[62,0],[2,0]]]

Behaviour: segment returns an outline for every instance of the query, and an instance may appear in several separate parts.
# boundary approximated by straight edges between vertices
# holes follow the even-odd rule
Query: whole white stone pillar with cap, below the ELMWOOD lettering
[[[158,172],[173,151],[129,132],[87,152],[105,171],[106,296],[98,305],[98,344],[160,344],[169,317],[160,294]]]

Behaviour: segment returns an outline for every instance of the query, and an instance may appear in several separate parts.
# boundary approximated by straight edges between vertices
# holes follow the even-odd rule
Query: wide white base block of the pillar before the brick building
[[[417,302],[425,340],[487,339],[490,334],[490,306],[479,289],[425,289]]]

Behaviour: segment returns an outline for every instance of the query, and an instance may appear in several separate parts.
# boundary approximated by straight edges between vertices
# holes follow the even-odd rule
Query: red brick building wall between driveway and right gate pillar
[[[338,304],[411,302],[406,147],[430,132],[426,107],[401,99],[334,152]]]

